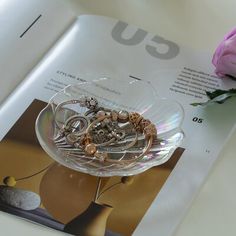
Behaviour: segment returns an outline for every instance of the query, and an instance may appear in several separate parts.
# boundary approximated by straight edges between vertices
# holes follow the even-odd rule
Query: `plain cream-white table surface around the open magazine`
[[[236,26],[235,0],[64,0],[78,15],[106,15],[198,50],[213,53]],[[176,236],[236,235],[236,132],[225,148]],[[64,235],[0,213],[0,235]]]

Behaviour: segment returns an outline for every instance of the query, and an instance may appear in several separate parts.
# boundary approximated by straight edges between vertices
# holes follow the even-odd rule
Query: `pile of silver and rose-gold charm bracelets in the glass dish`
[[[83,114],[75,113],[59,122],[57,115],[66,105],[86,109]],[[108,109],[100,106],[95,98],[86,96],[58,104],[54,110],[54,124],[57,130],[54,142],[67,156],[109,164],[141,160],[157,136],[155,125],[139,113]]]

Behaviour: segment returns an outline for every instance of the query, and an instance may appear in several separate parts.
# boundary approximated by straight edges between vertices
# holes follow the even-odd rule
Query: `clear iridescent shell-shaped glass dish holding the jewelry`
[[[157,138],[150,151],[141,159],[128,164],[124,161],[132,160],[135,155],[142,152],[146,145],[142,135],[137,144],[127,150],[120,149],[124,142],[116,146],[101,147],[102,151],[108,152],[115,160],[121,160],[117,163],[91,158],[68,145],[64,147],[58,145],[55,139],[63,123],[75,114],[84,114],[86,108],[78,104],[68,104],[56,114],[55,109],[60,103],[81,96],[94,97],[103,107],[138,112],[145,119],[149,119],[157,128]],[[48,155],[68,168],[95,176],[129,176],[163,164],[171,157],[184,138],[181,130],[183,117],[184,112],[180,104],[159,98],[151,84],[147,82],[101,78],[93,82],[70,85],[55,94],[38,115],[36,134],[40,145]]]

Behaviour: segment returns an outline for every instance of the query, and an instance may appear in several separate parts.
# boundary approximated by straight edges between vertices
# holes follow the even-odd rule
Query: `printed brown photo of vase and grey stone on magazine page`
[[[132,235],[184,149],[141,174],[102,178],[94,202],[98,178],[55,163],[39,145],[45,106],[34,100],[0,142],[0,210],[75,235]]]

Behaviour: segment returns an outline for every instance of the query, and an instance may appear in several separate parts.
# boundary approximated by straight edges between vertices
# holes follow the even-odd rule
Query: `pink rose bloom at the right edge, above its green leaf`
[[[215,65],[215,73],[236,78],[236,28],[227,34],[217,47],[212,63]]]

